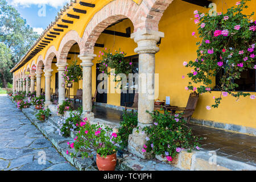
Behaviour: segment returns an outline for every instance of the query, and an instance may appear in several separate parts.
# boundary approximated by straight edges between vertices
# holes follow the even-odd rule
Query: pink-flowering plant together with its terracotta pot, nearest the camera
[[[85,119],[86,120],[86,119]],[[89,122],[81,122],[79,133],[74,139],[74,143],[68,143],[69,147],[75,148],[76,154],[71,153],[76,158],[77,152],[81,152],[82,158],[93,157],[93,152],[97,152],[96,163],[100,171],[114,171],[117,162],[117,146],[121,137],[109,127],[102,129],[100,125],[90,125]],[[67,151],[69,154],[69,151]]]

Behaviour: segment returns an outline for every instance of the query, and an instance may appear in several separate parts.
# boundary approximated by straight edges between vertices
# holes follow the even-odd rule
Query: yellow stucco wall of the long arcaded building
[[[218,4],[220,1],[213,2],[217,3],[218,12],[222,11],[222,8],[225,10],[227,7],[235,6],[234,4],[236,3],[232,0],[226,0],[225,2],[228,5],[226,6],[226,4]],[[106,4],[106,2],[104,3]],[[104,3],[102,3],[101,7],[104,6]],[[248,3],[248,5],[250,8],[246,10],[246,13],[251,13],[251,11],[254,10],[254,7],[256,7],[256,2],[251,1]],[[98,10],[100,9],[99,6],[97,6],[97,8]],[[204,9],[203,7],[192,5],[191,3],[181,0],[174,0],[164,12],[159,23],[159,31],[164,32],[165,37],[162,39],[162,43],[159,46],[160,52],[156,53],[155,73],[159,73],[159,99],[165,100],[166,96],[170,96],[171,105],[184,107],[187,104],[189,97],[189,92],[184,89],[184,87],[188,85],[189,79],[188,77],[185,77],[184,79],[181,77],[183,75],[187,75],[187,73],[191,71],[191,69],[183,66],[183,61],[194,60],[196,58],[196,42],[199,39],[191,36],[193,31],[197,32],[197,27],[193,22],[194,10],[204,11],[205,13],[209,11],[209,9]],[[79,35],[82,36],[86,23],[88,23],[88,20],[83,21],[83,19],[85,19],[85,16],[81,16],[79,21],[80,24],[84,24],[84,26],[76,26],[77,23],[75,23],[73,26],[70,26],[68,30],[76,30],[79,32]],[[109,30],[125,32],[125,28],[127,27],[131,27],[131,32],[133,32],[133,24],[129,19],[110,27]],[[62,35],[64,36],[65,34]],[[55,47],[58,48],[63,36],[60,36],[53,42]],[[97,43],[104,44],[106,48],[111,49],[112,51],[121,48],[122,51],[127,53],[127,56],[136,54],[134,53],[134,48],[137,47],[137,44],[134,43],[134,40],[129,38],[101,34],[97,40]],[[94,53],[97,55],[97,57],[93,60],[94,65],[92,67],[93,94],[96,89],[96,63],[97,60],[100,59],[98,57],[99,52],[103,49],[105,48],[94,48]],[[46,51],[43,51],[44,56]],[[79,52],[79,47],[75,45],[70,51]],[[81,60],[77,58],[77,55],[68,55],[68,57],[71,57],[71,60],[68,60],[68,64],[71,64],[72,61],[76,59],[79,60],[77,64],[81,63]],[[35,60],[36,59],[37,57],[35,57]],[[32,60],[27,64],[31,63]],[[27,64],[24,65],[24,67],[27,67]],[[55,73],[57,72],[55,64],[52,64],[52,69],[51,88],[53,88],[54,92]],[[18,73],[18,71],[16,71],[16,73]],[[42,88],[44,88],[43,76]],[[82,88],[82,81],[73,85],[71,95],[75,95],[78,88]],[[254,115],[256,111],[255,100],[251,100],[249,97],[246,97],[241,98],[240,101],[237,102],[236,98],[228,96],[222,99],[222,103],[218,109],[207,110],[205,107],[214,103],[213,96],[216,97],[219,95],[220,92],[212,92],[212,94],[207,93],[201,95],[197,109],[193,114],[193,118],[256,128],[256,118]],[[119,106],[120,94],[108,94],[108,104]]]

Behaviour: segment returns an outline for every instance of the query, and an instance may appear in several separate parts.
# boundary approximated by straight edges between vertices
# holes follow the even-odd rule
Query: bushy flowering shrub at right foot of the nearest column
[[[170,115],[167,111],[164,114],[159,111],[150,114],[154,124],[143,129],[148,137],[142,152],[164,155],[171,161],[184,148],[188,151],[194,148],[199,150],[199,138],[193,136],[180,114]]]

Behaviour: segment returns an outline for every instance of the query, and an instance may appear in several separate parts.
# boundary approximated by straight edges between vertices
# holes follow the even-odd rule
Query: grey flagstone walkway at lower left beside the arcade
[[[0,94],[0,107],[0,170],[77,170],[6,95]]]

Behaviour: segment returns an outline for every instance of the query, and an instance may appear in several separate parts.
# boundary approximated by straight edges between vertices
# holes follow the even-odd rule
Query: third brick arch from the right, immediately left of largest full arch
[[[81,50],[82,40],[75,30],[71,30],[65,34],[63,39],[61,40],[58,52],[59,52],[59,60],[57,59],[57,63],[67,63],[68,52],[73,46],[73,44],[77,43]]]

